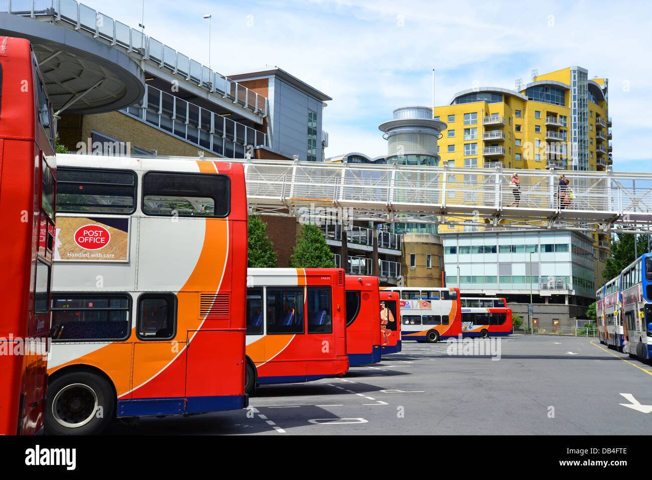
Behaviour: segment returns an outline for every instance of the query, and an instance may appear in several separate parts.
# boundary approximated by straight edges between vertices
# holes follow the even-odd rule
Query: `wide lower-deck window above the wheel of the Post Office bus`
[[[52,295],[52,340],[125,340],[130,297],[115,295]]]

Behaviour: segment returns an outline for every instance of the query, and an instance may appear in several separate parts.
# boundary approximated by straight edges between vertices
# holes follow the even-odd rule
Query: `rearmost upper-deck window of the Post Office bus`
[[[219,173],[148,172],[143,213],[168,217],[228,217],[231,180]]]

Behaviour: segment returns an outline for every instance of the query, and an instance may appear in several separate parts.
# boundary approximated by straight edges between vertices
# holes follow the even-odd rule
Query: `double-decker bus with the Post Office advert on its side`
[[[243,166],[57,161],[46,432],[244,408]]]

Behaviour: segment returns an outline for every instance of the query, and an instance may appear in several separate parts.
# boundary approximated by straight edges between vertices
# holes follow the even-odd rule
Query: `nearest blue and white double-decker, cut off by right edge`
[[[627,265],[620,277],[627,353],[645,361],[652,358],[652,254]]]

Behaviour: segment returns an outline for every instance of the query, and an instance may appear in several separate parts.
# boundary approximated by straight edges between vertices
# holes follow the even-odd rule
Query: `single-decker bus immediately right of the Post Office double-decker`
[[[250,268],[246,282],[247,393],[346,373],[344,270]]]

